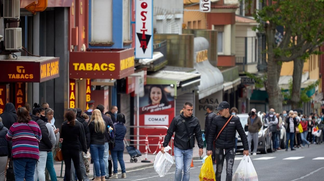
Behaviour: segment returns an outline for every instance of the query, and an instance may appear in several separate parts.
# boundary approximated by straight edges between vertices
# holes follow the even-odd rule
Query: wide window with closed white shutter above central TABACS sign
[[[91,41],[112,42],[112,0],[92,0]]]

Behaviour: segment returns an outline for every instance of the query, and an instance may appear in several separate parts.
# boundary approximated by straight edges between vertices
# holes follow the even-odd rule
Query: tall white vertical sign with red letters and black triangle
[[[153,0],[136,0],[135,57],[153,56]]]

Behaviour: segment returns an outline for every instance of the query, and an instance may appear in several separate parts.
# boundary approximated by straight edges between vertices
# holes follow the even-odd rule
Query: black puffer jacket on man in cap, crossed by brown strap
[[[229,119],[223,116],[216,116],[211,124],[209,130],[209,136],[207,140],[207,150],[212,150],[214,144],[214,138],[218,135],[219,131],[223,128],[227,120]],[[236,130],[241,137],[244,150],[249,150],[249,143],[242,127],[240,120],[233,116],[233,118],[228,122],[224,130],[219,135],[218,139],[216,140],[216,148],[221,149],[231,149],[235,148],[235,134]]]

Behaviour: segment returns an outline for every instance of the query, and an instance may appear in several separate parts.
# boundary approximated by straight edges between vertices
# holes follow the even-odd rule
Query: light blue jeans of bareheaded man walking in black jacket
[[[176,160],[175,181],[189,181],[190,179],[190,165],[192,160],[193,149],[181,150],[174,147],[174,157]],[[183,178],[182,178],[183,170]]]

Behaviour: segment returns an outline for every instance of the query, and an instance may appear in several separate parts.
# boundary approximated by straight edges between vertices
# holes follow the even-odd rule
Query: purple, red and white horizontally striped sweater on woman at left
[[[28,125],[16,122],[6,135],[6,139],[12,141],[13,159],[39,159],[38,144],[41,141],[41,129],[35,121],[29,121]]]

